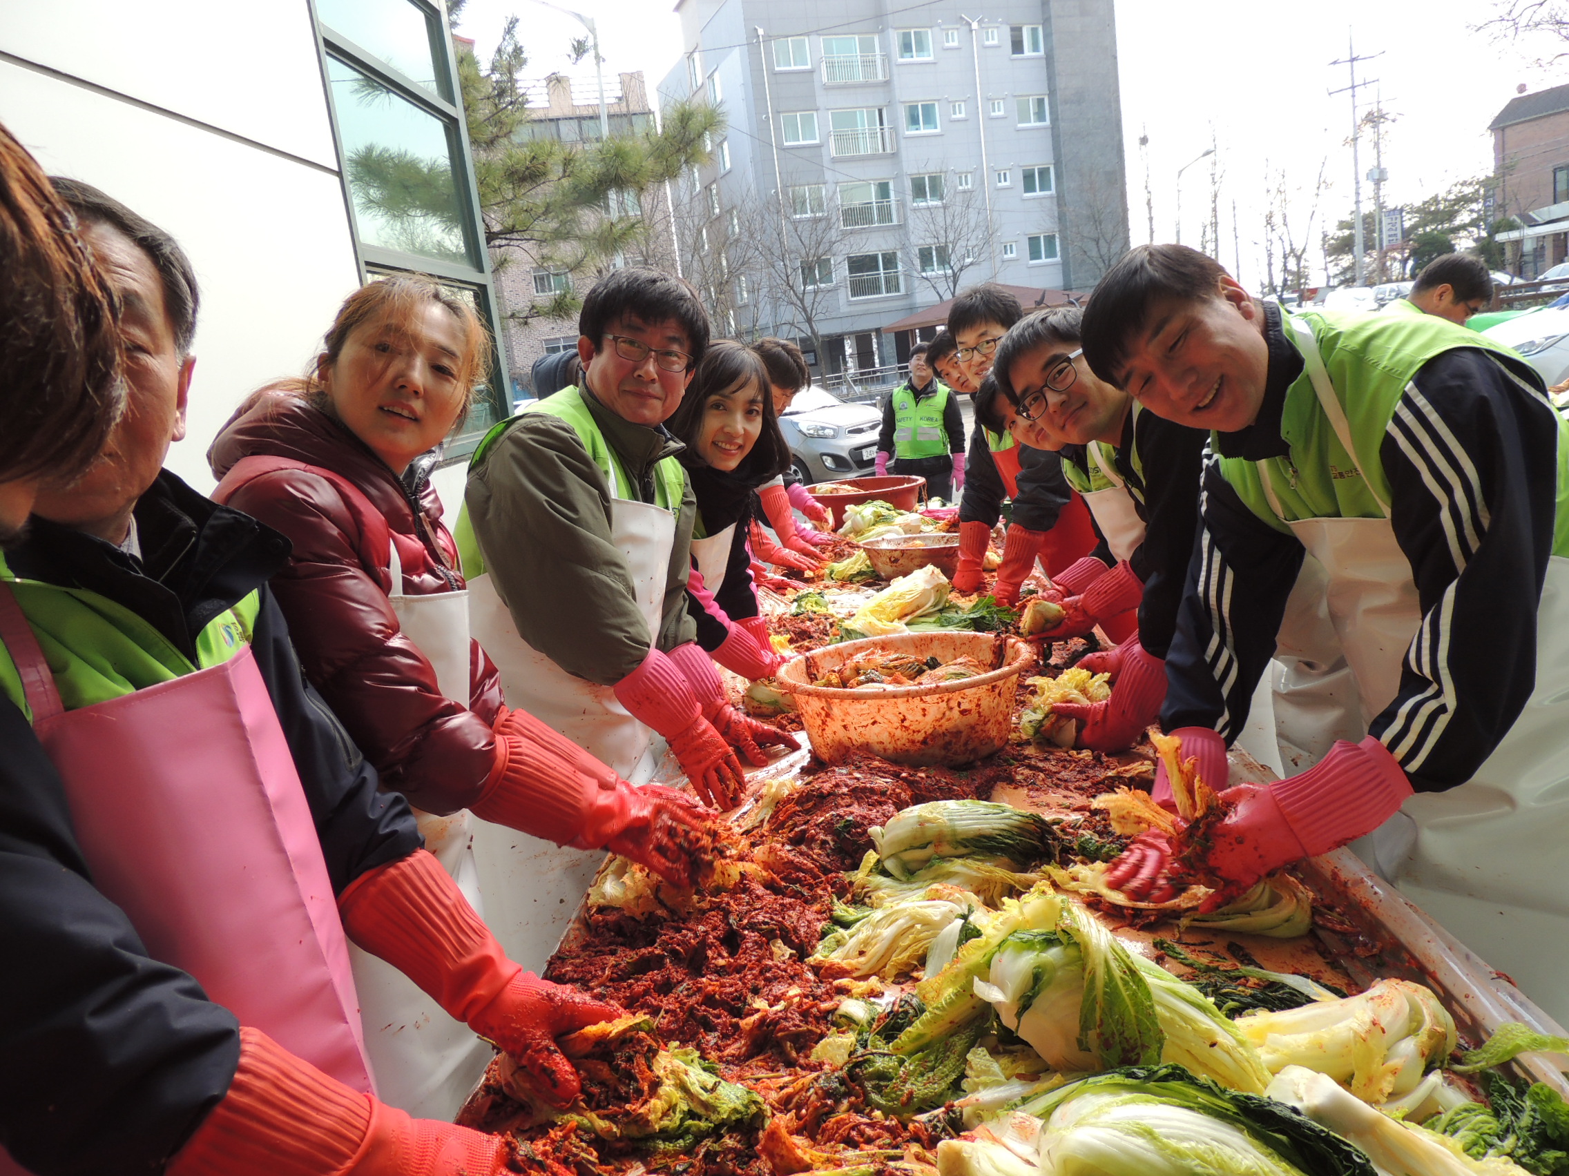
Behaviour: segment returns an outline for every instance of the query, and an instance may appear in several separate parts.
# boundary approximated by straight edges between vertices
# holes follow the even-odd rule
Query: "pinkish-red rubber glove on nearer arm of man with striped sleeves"
[[[1227,789],[1221,797],[1232,811],[1214,826],[1203,858],[1205,873],[1221,886],[1200,909],[1224,906],[1266,873],[1371,833],[1411,795],[1400,760],[1373,735],[1360,743],[1337,740],[1315,767],[1272,786]],[[1117,886],[1112,878],[1125,877],[1122,866],[1119,858],[1106,875],[1108,884]],[[1130,886],[1149,872],[1145,861],[1138,878],[1119,889],[1138,898]]]

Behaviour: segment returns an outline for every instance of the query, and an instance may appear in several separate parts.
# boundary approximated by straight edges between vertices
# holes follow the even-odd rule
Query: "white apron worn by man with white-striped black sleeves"
[[[1359,461],[1305,323],[1293,325],[1313,389]],[[1265,492],[1279,511],[1265,470]],[[1389,510],[1389,503],[1379,503]],[[1400,690],[1422,608],[1389,517],[1290,524],[1323,568],[1324,604],[1356,677],[1359,718]],[[1569,560],[1552,557],[1538,607],[1536,684],[1476,775],[1417,793],[1352,845],[1385,878],[1558,1021],[1569,1019]]]

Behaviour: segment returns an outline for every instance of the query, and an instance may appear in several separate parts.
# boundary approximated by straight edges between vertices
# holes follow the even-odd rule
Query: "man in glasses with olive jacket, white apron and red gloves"
[[[469,464],[458,546],[472,633],[507,706],[634,784],[653,775],[657,732],[698,795],[728,809],[745,723],[687,615],[697,506],[664,428],[708,314],[686,282],[624,268],[588,292],[579,331],[582,387],[496,425]]]

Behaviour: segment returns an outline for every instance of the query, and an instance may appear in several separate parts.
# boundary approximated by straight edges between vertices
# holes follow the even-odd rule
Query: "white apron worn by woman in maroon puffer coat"
[[[391,539],[391,536],[389,536]],[[403,561],[391,541],[388,601],[403,635],[436,670],[436,685],[447,698],[469,702],[469,594],[466,591],[403,594]],[[474,862],[471,814],[449,817],[414,809],[425,848],[458,883],[463,897],[485,917],[480,903],[479,867]],[[359,1016],[366,1052],[383,1102],[416,1118],[450,1123],[485,1076],[491,1047],[461,1021],[455,1021],[384,960],[348,946],[359,991]]]

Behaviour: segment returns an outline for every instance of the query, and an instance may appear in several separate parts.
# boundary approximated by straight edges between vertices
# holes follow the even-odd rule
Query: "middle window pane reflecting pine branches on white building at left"
[[[362,245],[472,265],[444,119],[326,60]]]

